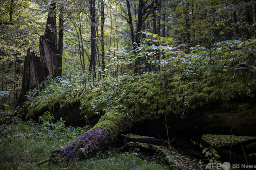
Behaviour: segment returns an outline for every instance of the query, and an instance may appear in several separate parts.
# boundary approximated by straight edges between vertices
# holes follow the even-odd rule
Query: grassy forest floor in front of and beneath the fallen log
[[[139,149],[131,152],[115,152],[106,150],[94,157],[75,159],[70,163],[53,165],[44,163],[49,159],[53,150],[62,148],[75,137],[88,130],[90,127],[66,127],[57,131],[56,126],[48,127],[34,121],[22,122],[12,120],[12,123],[2,123],[0,126],[0,167],[2,169],[205,169],[207,159],[199,160],[182,153],[174,148],[166,148],[171,153],[168,160],[161,157],[143,156]],[[55,127],[55,128],[53,128]],[[138,138],[130,134],[129,137]],[[140,136],[139,136],[140,137]],[[214,145],[226,145],[251,137],[205,135],[203,137]],[[182,168],[182,169],[183,169]]]

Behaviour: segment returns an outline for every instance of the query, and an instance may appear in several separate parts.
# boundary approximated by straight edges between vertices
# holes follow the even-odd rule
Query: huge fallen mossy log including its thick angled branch
[[[52,162],[70,161],[82,156],[82,151],[94,154],[120,133],[165,140],[175,137],[177,143],[198,140],[203,134],[256,136],[256,80],[242,73],[233,79],[234,72],[229,73],[222,77],[205,75],[196,82],[173,73],[108,77],[97,86],[48,94],[44,101],[38,96],[27,102],[25,115],[36,117],[48,110],[57,116],[59,109],[64,115],[76,115],[77,120],[101,117],[91,130],[53,151]]]

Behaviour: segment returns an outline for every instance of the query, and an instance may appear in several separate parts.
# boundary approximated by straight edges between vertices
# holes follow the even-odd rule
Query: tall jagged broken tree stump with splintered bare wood
[[[39,41],[40,57],[36,57],[34,52],[30,54],[30,49],[27,50],[21,93],[17,99],[14,112],[25,102],[25,94],[29,89],[40,89],[40,82],[43,82],[49,75],[61,76],[63,26],[59,32],[59,54],[61,55],[58,55],[55,11],[56,5],[52,3],[46,21],[45,34],[41,36]],[[60,18],[60,25],[63,25],[63,17]],[[58,71],[56,68],[58,68]]]

